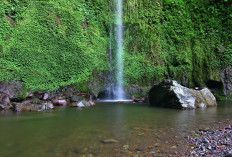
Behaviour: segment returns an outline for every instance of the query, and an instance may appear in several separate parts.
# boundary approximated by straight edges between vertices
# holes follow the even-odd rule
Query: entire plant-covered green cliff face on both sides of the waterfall
[[[0,80],[88,90],[83,84],[109,71],[113,2],[1,1]],[[227,0],[124,1],[125,85],[147,89],[172,78],[229,96],[231,10]]]

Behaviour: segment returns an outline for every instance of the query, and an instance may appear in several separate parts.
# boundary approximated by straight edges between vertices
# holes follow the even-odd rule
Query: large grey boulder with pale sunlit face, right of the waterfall
[[[184,109],[217,106],[216,98],[208,88],[189,89],[173,80],[154,85],[149,91],[149,103],[153,106]]]

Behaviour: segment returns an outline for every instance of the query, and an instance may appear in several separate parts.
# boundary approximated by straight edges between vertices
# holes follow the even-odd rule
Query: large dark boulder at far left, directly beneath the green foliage
[[[24,99],[26,97],[25,87],[22,83],[11,81],[11,82],[0,82],[0,92],[5,93],[10,99]]]

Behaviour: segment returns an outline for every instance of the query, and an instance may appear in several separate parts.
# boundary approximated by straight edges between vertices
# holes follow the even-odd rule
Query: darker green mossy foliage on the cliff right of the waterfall
[[[232,65],[232,3],[227,0],[128,0],[126,78],[174,78],[204,86]]]

